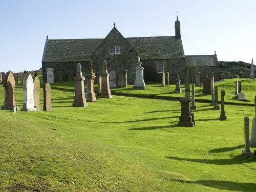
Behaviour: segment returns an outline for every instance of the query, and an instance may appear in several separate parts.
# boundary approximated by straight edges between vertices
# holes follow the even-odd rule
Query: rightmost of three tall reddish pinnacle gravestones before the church
[[[106,61],[103,61],[102,65],[102,74],[101,74],[101,89],[100,89],[100,97],[103,98],[112,98],[111,91],[110,91],[110,80],[109,76],[110,74],[108,73],[108,70],[106,70]]]

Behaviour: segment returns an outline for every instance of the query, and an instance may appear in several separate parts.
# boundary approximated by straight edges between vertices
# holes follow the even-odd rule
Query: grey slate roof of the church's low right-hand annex
[[[185,67],[216,67],[218,60],[216,55],[186,55]]]

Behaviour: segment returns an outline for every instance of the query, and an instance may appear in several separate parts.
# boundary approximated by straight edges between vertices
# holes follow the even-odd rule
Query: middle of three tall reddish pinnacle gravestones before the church
[[[94,79],[95,73],[93,72],[93,62],[89,61],[88,72],[86,74],[87,79],[87,89],[86,89],[86,100],[88,102],[97,102],[95,93],[94,93]]]

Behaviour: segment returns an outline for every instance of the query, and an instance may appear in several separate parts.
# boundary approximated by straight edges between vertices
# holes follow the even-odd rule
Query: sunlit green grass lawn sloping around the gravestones
[[[234,97],[236,80],[247,101]],[[129,85],[113,89],[111,99],[73,108],[74,82],[55,83],[52,112],[0,110],[0,191],[255,191],[256,158],[244,159],[242,150],[256,82],[216,85],[219,100],[226,92],[227,120],[196,87],[196,126],[180,127],[184,85],[181,94],[174,84]],[[15,100],[22,108],[20,84]]]

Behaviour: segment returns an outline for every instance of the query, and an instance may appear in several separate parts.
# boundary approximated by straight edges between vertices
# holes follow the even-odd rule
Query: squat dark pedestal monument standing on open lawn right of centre
[[[190,102],[191,100],[188,98],[182,98],[179,100],[181,103],[181,116],[178,125],[186,126],[186,127],[193,127],[193,117],[191,116],[190,112]]]

